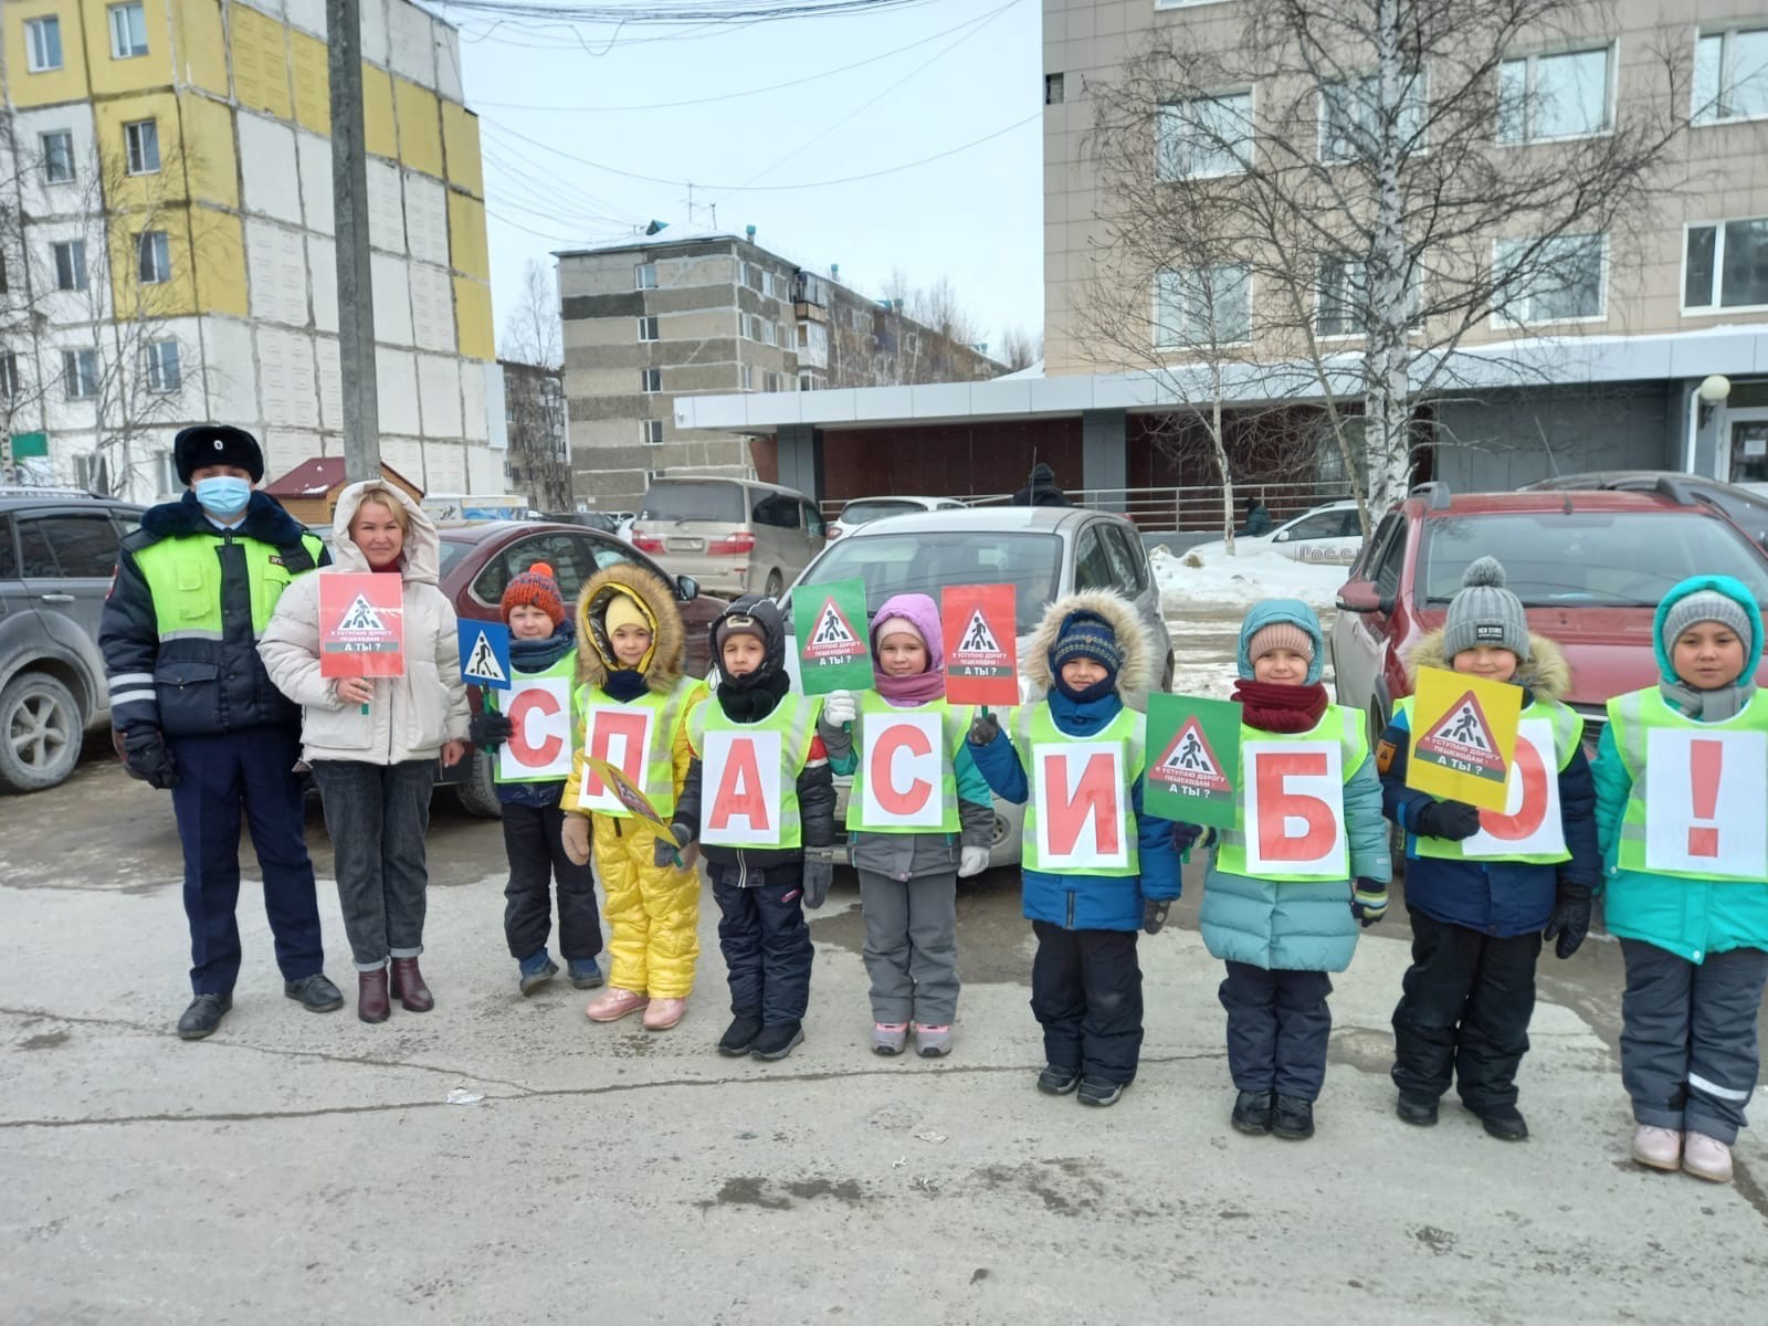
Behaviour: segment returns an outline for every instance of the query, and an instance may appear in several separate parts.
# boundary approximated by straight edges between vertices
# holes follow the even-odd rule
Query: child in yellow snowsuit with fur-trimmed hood
[[[608,990],[591,1001],[592,1022],[644,1010],[645,1031],[681,1022],[700,956],[700,873],[686,850],[698,806],[684,804],[688,713],[705,682],[682,675],[686,654],[675,596],[649,571],[612,566],[583,585],[576,603],[576,773],[564,792],[564,849],[587,861],[606,893]],[[591,776],[582,801],[583,757],[605,758],[644,790],[681,833],[682,852]],[[594,840],[594,842],[592,842]],[[679,865],[677,865],[679,861]]]

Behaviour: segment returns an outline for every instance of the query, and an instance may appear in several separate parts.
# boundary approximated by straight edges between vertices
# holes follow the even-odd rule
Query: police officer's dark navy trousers
[[[239,976],[239,829],[244,819],[263,872],[263,911],[283,979],[325,965],[313,861],[302,829],[301,730],[256,727],[168,737],[179,785],[171,808],[184,843],[184,914],[191,921],[191,990],[226,994]]]

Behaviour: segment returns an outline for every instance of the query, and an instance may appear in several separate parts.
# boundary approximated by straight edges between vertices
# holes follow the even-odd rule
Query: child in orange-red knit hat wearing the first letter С
[[[534,562],[509,580],[499,605],[509,624],[509,665],[513,688],[502,700],[509,714],[499,713],[497,691],[484,691],[484,709],[472,718],[472,741],[497,758],[497,750],[516,737],[522,723],[523,750],[539,757],[546,750],[548,716],[564,721],[564,750],[569,755],[571,690],[576,684],[576,629],[566,619],[559,582],[546,562]],[[560,704],[562,702],[562,704]],[[514,718],[511,718],[514,714]],[[569,760],[566,760],[569,769]],[[504,804],[504,852],[509,857],[509,884],[504,886],[504,937],[509,956],[522,964],[522,994],[539,990],[559,974],[559,964],[546,951],[552,934],[552,889],[559,880],[559,951],[564,955],[571,985],[591,990],[601,985],[601,921],[596,916],[596,879],[589,865],[576,865],[560,842],[566,774],[506,776],[499,773],[497,799]]]

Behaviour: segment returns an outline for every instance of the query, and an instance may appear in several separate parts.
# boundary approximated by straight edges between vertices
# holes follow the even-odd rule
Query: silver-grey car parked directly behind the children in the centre
[[[944,585],[1011,583],[1020,651],[1054,599],[1077,589],[1116,589],[1135,601],[1147,629],[1165,642],[1165,658],[1156,667],[1160,688],[1172,690],[1172,645],[1160,615],[1160,587],[1135,525],[1123,516],[1024,506],[886,516],[831,543],[790,592],[813,592],[815,585],[856,576],[866,583],[868,621],[893,594],[928,594],[937,603]],[[792,629],[790,596],[787,629]],[[787,647],[787,665],[796,675],[794,644]],[[1020,691],[1036,698],[1024,679]],[[836,815],[847,813],[847,781],[836,778]],[[995,801],[994,865],[1018,861],[1022,817],[1022,806]]]

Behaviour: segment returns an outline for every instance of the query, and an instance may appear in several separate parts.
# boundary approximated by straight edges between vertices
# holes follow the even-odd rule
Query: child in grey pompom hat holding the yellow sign
[[[1570,958],[1589,930],[1597,796],[1584,720],[1563,698],[1572,688],[1565,656],[1529,633],[1497,560],[1478,559],[1462,583],[1443,629],[1418,642],[1407,667],[1414,677],[1434,667],[1522,688],[1524,725],[1538,720],[1551,734],[1559,826],[1552,843],[1506,852],[1485,831],[1490,812],[1482,819],[1475,806],[1407,787],[1411,700],[1398,704],[1376,750],[1388,819],[1406,831],[1413,921],[1413,965],[1393,1010],[1395,1112],[1434,1124],[1453,1078],[1487,1133],[1520,1142],[1529,1128],[1517,1109],[1517,1066],[1529,1048],[1535,964],[1543,939]]]

